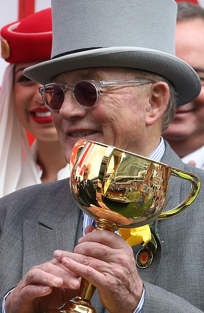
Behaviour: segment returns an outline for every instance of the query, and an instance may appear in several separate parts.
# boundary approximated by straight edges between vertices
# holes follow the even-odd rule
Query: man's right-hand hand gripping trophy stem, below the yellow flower
[[[132,248],[117,234],[88,226],[74,253],[57,250],[55,258],[99,290],[100,300],[111,313],[132,313],[142,296]]]

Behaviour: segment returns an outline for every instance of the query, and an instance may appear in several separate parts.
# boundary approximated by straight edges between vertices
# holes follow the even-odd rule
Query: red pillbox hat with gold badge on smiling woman
[[[0,37],[2,57],[9,63],[49,60],[52,47],[51,8],[4,26]]]

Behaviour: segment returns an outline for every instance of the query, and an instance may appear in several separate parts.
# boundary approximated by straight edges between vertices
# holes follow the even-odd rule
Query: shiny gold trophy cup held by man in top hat
[[[199,178],[113,146],[80,140],[70,158],[70,188],[78,207],[96,221],[97,229],[135,228],[184,211],[196,198]],[[191,182],[176,208],[163,212],[171,175]],[[95,287],[82,278],[79,296],[51,312],[95,313],[90,299]]]

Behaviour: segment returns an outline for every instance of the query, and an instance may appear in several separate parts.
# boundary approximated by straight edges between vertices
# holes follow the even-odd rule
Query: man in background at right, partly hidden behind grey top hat
[[[183,162],[204,166],[204,9],[190,3],[178,3],[176,55],[198,73],[202,88],[198,97],[178,107],[174,121],[164,138]]]

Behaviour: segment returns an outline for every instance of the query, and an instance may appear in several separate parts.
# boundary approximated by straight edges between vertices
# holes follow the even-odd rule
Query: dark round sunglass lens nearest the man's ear
[[[93,84],[84,81],[74,87],[74,96],[80,105],[89,108],[96,103],[97,90]]]

